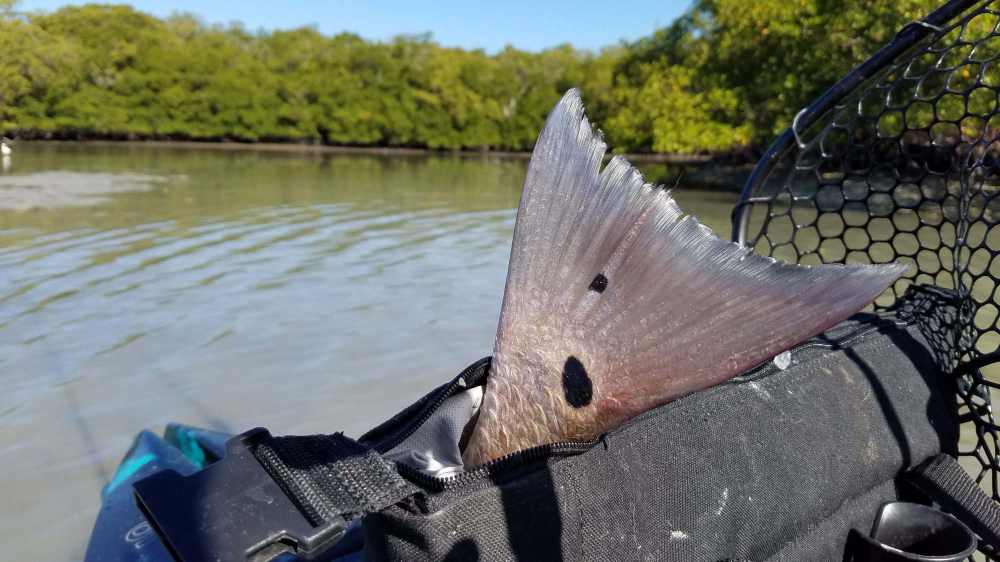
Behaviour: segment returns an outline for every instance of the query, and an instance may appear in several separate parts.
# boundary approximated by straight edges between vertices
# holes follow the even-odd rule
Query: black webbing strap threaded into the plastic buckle
[[[392,462],[343,433],[272,437],[254,456],[316,526],[337,516],[351,521],[417,491]]]

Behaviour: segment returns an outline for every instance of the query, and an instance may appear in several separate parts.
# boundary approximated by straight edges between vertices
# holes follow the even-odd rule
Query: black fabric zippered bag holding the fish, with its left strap
[[[357,442],[276,437],[254,455],[314,526],[361,519],[367,560],[844,560],[885,502],[930,503],[901,475],[955,453],[957,308],[911,287],[594,442],[446,479],[386,457],[484,384],[488,359]]]

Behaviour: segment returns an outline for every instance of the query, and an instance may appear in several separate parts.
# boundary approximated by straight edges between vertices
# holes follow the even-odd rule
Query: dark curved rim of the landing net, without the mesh
[[[747,245],[747,229],[750,224],[750,205],[748,203],[754,201],[753,191],[767,179],[771,170],[789,148],[796,145],[803,146],[799,137],[800,132],[812,127],[816,121],[833,109],[847,95],[857,90],[887,65],[892,64],[899,55],[909,50],[927,35],[941,31],[940,26],[952,21],[980,1],[949,0],[923,19],[907,25],[886,46],[841,78],[809,107],[799,111],[792,121],[792,126],[778,136],[753,171],[750,172],[750,177],[747,178],[747,183],[740,193],[740,200],[733,208],[733,240],[744,246]]]

